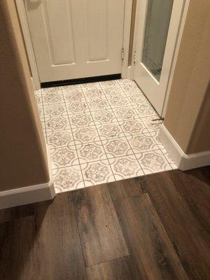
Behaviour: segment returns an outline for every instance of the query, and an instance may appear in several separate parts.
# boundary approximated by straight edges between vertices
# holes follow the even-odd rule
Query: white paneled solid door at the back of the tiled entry
[[[41,82],[121,73],[125,0],[24,0]]]

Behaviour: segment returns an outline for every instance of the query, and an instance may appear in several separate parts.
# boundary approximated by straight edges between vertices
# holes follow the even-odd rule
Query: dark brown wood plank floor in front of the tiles
[[[0,279],[210,279],[210,167],[0,211]]]

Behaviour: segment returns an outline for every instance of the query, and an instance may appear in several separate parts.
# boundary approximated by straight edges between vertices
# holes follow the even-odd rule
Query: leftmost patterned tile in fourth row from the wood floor
[[[68,116],[59,116],[45,119],[46,132],[70,129]]]

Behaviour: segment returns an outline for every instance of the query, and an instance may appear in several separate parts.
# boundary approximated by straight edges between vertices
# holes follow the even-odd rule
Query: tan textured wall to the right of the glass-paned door
[[[185,153],[210,150],[209,15],[210,1],[190,1],[165,116]]]

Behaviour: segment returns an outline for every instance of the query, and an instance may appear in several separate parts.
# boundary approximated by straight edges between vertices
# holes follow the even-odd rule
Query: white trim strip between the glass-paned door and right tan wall
[[[176,47],[175,47],[175,50],[174,50],[174,58],[173,58],[173,61],[172,61],[172,67],[171,67],[171,71],[170,71],[170,75],[169,75],[167,91],[166,91],[166,94],[165,94],[165,101],[164,101],[163,108],[162,108],[162,117],[163,118],[165,117],[165,113],[166,113],[166,110],[167,110],[167,104],[168,104],[168,101],[169,101],[169,94],[170,94],[171,87],[172,87],[172,80],[174,78],[176,61],[177,61],[177,58],[178,58],[179,48],[180,48],[180,45],[181,45],[181,38],[183,36],[183,29],[184,29],[184,26],[186,24],[186,18],[187,18],[189,4],[190,4],[190,0],[186,0],[185,3],[184,3],[184,6],[183,6],[183,13],[182,13],[181,22],[180,22],[180,25],[179,25],[178,36],[176,38]]]

